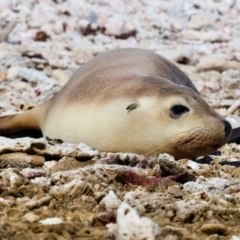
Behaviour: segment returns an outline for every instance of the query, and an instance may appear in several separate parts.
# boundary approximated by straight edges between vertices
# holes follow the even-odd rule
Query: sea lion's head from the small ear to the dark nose
[[[152,142],[148,139],[152,145],[146,145],[147,152],[143,154],[166,152],[176,159],[198,157],[213,153],[228,141],[232,132],[230,123],[198,93],[168,80],[161,83],[161,87],[155,86],[155,94],[152,89],[151,95],[128,106],[130,114],[139,109],[139,113],[145,115],[139,115],[135,125],[152,137]]]

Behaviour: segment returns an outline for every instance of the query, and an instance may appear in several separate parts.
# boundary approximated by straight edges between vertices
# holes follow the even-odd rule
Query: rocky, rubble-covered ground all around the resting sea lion
[[[240,1],[0,0],[1,114],[123,47],[175,62],[240,126]],[[240,239],[240,146],[175,161],[0,137],[0,239]]]

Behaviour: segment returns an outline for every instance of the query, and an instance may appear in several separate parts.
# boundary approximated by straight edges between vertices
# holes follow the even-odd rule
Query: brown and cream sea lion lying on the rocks
[[[100,151],[177,159],[212,153],[232,132],[180,69],[142,49],[99,54],[47,102],[0,118],[3,134],[25,128]]]

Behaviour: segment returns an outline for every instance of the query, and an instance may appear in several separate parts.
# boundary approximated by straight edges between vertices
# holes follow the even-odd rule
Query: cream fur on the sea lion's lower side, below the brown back
[[[100,151],[107,149],[117,152],[121,149],[127,152],[133,151],[134,146],[137,152],[146,154],[161,144],[159,131],[164,128],[160,121],[160,129],[148,124],[149,118],[155,118],[148,114],[154,102],[159,106],[156,97],[142,98],[139,100],[141,108],[131,113],[126,110],[126,106],[131,103],[129,99],[118,99],[101,105],[61,106],[49,112],[41,128],[44,136],[65,142],[84,142]],[[64,112],[62,109],[65,109]],[[158,113],[155,111],[154,114]]]

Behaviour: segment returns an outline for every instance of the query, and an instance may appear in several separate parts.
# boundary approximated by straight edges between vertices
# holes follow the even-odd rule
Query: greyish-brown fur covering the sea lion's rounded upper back
[[[198,93],[191,80],[167,59],[148,50],[121,49],[100,54],[84,64],[54,101],[107,101],[123,96],[123,93],[127,97],[133,94],[156,94],[164,87],[162,79],[187,86]],[[172,93],[176,87],[173,85],[164,91],[166,94]]]

